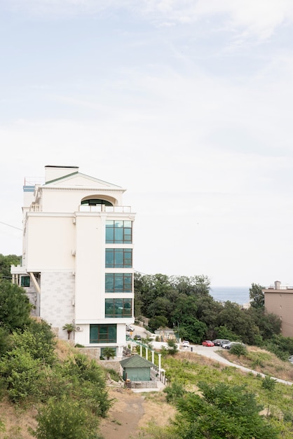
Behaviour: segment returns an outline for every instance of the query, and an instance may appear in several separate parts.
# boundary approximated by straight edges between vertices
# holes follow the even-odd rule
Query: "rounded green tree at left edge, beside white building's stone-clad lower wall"
[[[32,305],[25,290],[8,281],[0,281],[0,326],[12,332],[24,330],[30,323]]]

